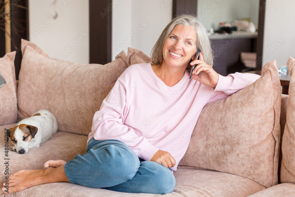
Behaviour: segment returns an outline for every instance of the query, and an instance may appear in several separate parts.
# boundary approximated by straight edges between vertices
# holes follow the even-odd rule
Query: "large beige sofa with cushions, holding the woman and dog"
[[[47,160],[68,161],[83,154],[92,117],[117,78],[131,64],[151,62],[150,57],[132,48],[105,65],[52,58],[27,40],[22,40],[21,52],[18,81],[14,72],[16,52],[0,58],[0,73],[6,81],[0,88],[1,183],[18,170],[43,169]],[[290,74],[294,65],[295,60],[290,57]],[[289,95],[282,95],[276,61],[271,61],[263,66],[260,78],[253,84],[226,99],[207,104],[196,122],[187,152],[174,172],[175,189],[163,196],[294,196],[294,77],[291,75]],[[130,87],[126,91],[135,89]],[[14,127],[40,109],[56,116],[57,133],[26,154],[8,150],[12,143],[5,128]],[[181,140],[180,137],[178,141]],[[173,142],[176,147],[178,144]],[[0,195],[160,196],[72,183],[49,183],[17,193],[1,191]]]

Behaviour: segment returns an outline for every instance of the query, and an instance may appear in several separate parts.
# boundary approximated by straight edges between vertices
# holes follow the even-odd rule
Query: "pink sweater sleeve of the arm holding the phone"
[[[247,87],[255,82],[260,75],[251,73],[229,74],[227,76],[219,75],[217,86],[214,89],[215,94],[212,95],[209,102],[214,100],[227,98],[235,92]]]

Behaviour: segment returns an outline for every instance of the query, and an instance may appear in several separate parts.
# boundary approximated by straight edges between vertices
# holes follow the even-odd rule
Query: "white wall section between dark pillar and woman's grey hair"
[[[112,60],[122,50],[127,53],[128,47],[150,56],[155,42],[172,19],[172,0],[117,1],[112,9]]]

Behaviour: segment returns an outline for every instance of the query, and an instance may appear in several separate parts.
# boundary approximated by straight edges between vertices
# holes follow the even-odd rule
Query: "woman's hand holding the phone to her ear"
[[[191,65],[197,64],[194,68],[192,79],[199,81],[200,83],[215,88],[219,79],[219,75],[213,70],[212,66],[204,62],[203,54],[200,52],[199,59],[191,62]],[[201,73],[201,76],[197,74]]]

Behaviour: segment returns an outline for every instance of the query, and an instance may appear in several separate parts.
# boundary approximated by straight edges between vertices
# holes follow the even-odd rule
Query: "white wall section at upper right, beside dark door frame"
[[[276,60],[280,68],[286,66],[290,56],[295,58],[294,7],[294,0],[266,1],[263,65]]]

